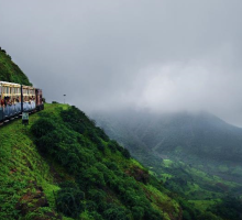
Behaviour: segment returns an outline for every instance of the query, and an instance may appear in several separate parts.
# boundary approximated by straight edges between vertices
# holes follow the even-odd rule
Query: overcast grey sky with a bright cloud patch
[[[47,101],[242,127],[241,12],[241,0],[0,0],[0,46]]]

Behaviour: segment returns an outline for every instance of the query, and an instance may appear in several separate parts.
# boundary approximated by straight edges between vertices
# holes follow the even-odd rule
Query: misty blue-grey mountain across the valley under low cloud
[[[92,114],[144,164],[172,158],[242,183],[242,129],[207,112]]]

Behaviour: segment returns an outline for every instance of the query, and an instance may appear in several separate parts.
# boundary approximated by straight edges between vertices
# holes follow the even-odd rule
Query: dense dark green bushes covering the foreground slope
[[[64,210],[64,207],[80,205],[80,210],[97,219],[161,219],[161,212],[151,206],[143,190],[145,185],[138,184],[147,184],[148,173],[142,167],[135,168],[129,151],[110,141],[103,130],[96,128],[76,107],[58,112],[61,117],[42,113],[31,129],[38,151],[75,178],[75,187],[59,185],[58,210],[77,218],[80,212]],[[74,206],[75,191],[77,197],[81,191],[86,196],[84,202]]]

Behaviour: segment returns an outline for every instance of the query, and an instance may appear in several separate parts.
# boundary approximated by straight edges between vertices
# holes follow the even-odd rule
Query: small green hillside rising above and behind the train
[[[0,81],[11,81],[30,86],[28,77],[20,67],[11,61],[11,56],[0,47]]]

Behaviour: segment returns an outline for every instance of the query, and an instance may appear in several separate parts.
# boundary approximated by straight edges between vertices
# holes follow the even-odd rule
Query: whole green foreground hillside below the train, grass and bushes
[[[206,213],[172,198],[75,107],[46,105],[31,116],[30,127],[14,121],[1,128],[0,140],[0,219],[153,220]]]

